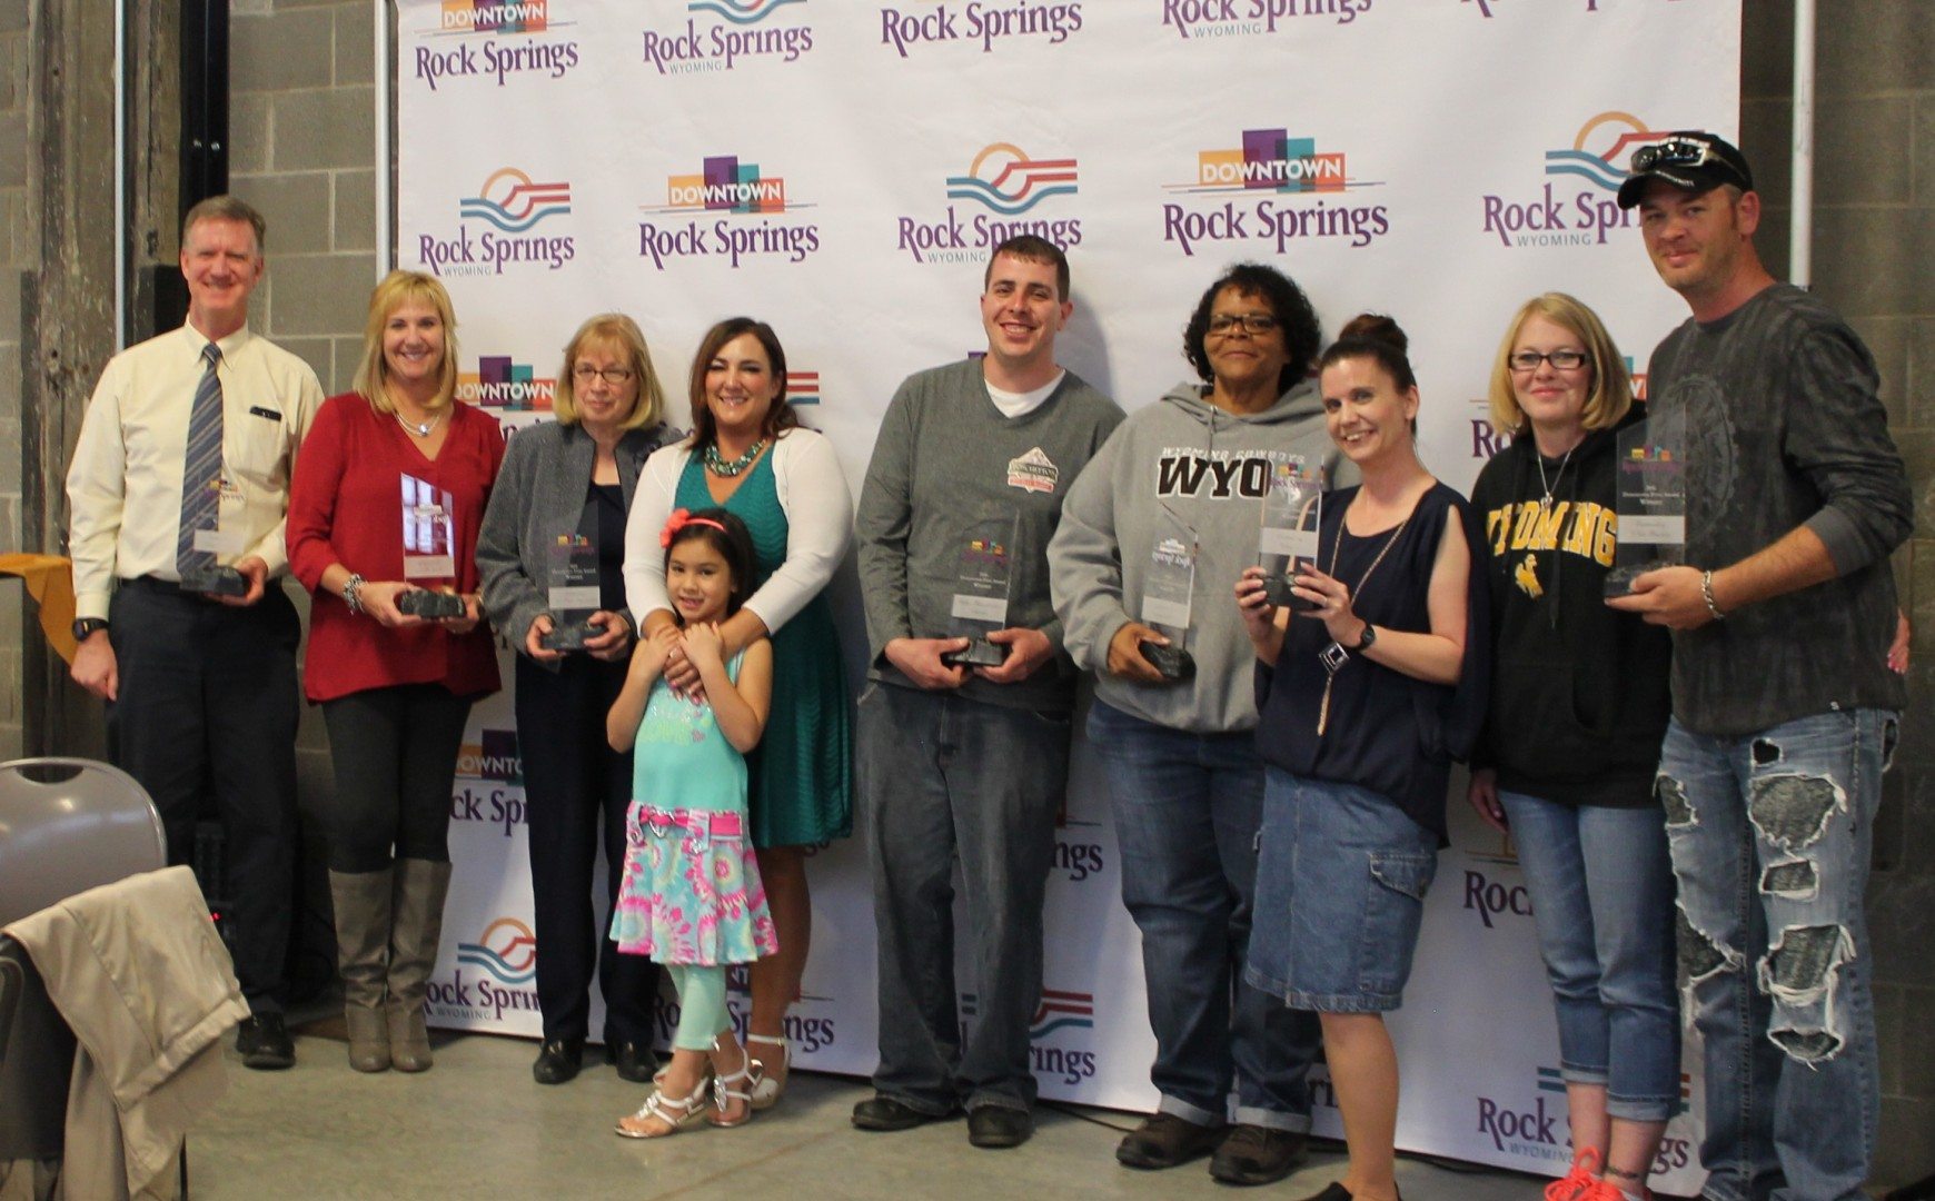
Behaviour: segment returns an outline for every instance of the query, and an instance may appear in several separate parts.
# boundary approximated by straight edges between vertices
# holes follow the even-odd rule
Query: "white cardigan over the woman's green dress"
[[[848,491],[832,441],[815,429],[788,429],[770,454],[780,509],[786,511],[791,532],[786,540],[786,563],[747,598],[745,607],[768,630],[778,630],[826,588],[834,569],[846,559],[853,540],[853,493]],[[679,491],[679,476],[691,456],[691,439],[654,451],[644,460],[639,495],[625,520],[625,603],[637,613],[640,627],[652,609],[671,611],[666,596],[666,549],[658,545],[658,532],[671,516],[671,497]]]

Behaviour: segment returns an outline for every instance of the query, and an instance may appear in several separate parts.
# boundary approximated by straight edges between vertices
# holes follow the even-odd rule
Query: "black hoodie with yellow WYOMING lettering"
[[[1635,410],[1637,418],[1637,410]],[[1498,787],[1565,805],[1652,805],[1672,714],[1672,640],[1606,607],[1618,532],[1614,431],[1571,458],[1517,437],[1471,491],[1492,588],[1492,708],[1474,768]],[[1552,507],[1540,516],[1544,487]]]

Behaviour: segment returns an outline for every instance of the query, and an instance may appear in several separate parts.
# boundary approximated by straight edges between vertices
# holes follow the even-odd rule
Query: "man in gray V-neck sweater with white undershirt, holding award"
[[[987,354],[900,385],[861,487],[871,685],[855,745],[880,973],[880,1068],[877,1097],[853,1106],[861,1129],[909,1129],[966,1106],[975,1147],[1033,1133],[1027,1027],[1076,687],[1047,547],[1068,485],[1122,420],[1055,362],[1072,308],[1057,246],[1024,236],[995,248]],[[950,661],[969,648],[969,623],[1004,648],[998,665]],[[956,863],[973,948],[966,1037]]]

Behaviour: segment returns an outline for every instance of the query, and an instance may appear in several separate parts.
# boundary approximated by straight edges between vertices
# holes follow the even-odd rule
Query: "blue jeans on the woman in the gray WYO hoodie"
[[[1264,822],[1256,737],[1169,729],[1099,700],[1087,735],[1142,932],[1159,1112],[1221,1126],[1235,1079],[1236,1122],[1310,1129],[1318,1019],[1242,982]]]

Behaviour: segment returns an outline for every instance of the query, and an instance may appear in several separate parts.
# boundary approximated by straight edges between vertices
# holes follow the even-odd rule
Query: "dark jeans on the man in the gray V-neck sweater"
[[[859,797],[878,942],[873,1085],[923,1114],[1035,1100],[1041,903],[1068,783],[1066,714],[871,685]],[[954,863],[966,892],[975,1017],[954,986]]]

